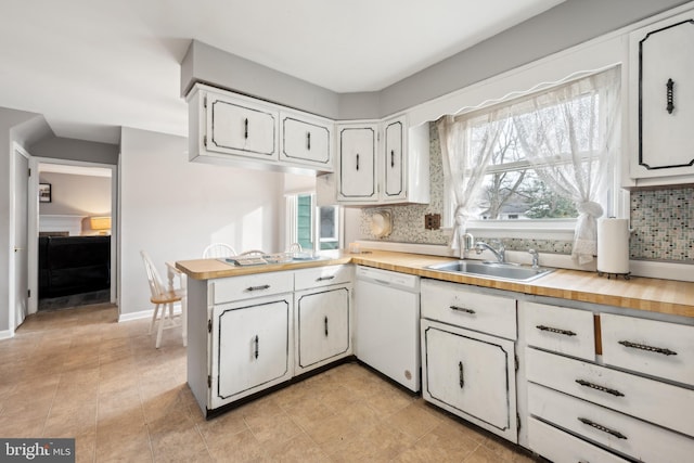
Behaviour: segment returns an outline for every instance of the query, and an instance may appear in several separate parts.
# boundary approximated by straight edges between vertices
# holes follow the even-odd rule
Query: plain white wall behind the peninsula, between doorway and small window
[[[190,163],[185,138],[124,128],[120,142],[120,316],[151,310],[140,249],[165,261],[202,257],[211,242],[277,252],[282,173]]]

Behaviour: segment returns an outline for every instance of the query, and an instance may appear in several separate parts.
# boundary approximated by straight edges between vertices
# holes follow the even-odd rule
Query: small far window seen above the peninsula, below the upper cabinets
[[[339,248],[339,206],[316,206],[312,194],[286,197],[287,243],[304,249]]]

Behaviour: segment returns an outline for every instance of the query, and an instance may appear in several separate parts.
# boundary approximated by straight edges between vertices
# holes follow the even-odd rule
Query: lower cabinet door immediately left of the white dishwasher
[[[349,288],[297,293],[296,331],[297,372],[350,353]]]

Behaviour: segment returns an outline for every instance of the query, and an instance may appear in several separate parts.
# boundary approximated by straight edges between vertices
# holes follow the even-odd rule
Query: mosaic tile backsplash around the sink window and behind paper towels
[[[364,208],[360,232],[364,240],[371,234],[371,215],[389,210],[393,232],[380,239],[396,243],[448,244],[448,234],[424,228],[425,214],[444,213],[444,166],[436,124],[429,124],[430,203]],[[694,265],[694,188],[633,191],[631,193],[630,241],[632,259],[664,260]],[[506,239],[500,236],[506,249],[538,249],[540,253],[571,254],[571,242],[557,240]]]

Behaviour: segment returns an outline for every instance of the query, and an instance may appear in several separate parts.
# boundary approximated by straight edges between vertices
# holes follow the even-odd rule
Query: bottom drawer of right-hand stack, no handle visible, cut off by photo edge
[[[528,419],[528,446],[554,463],[628,461],[534,417]]]

